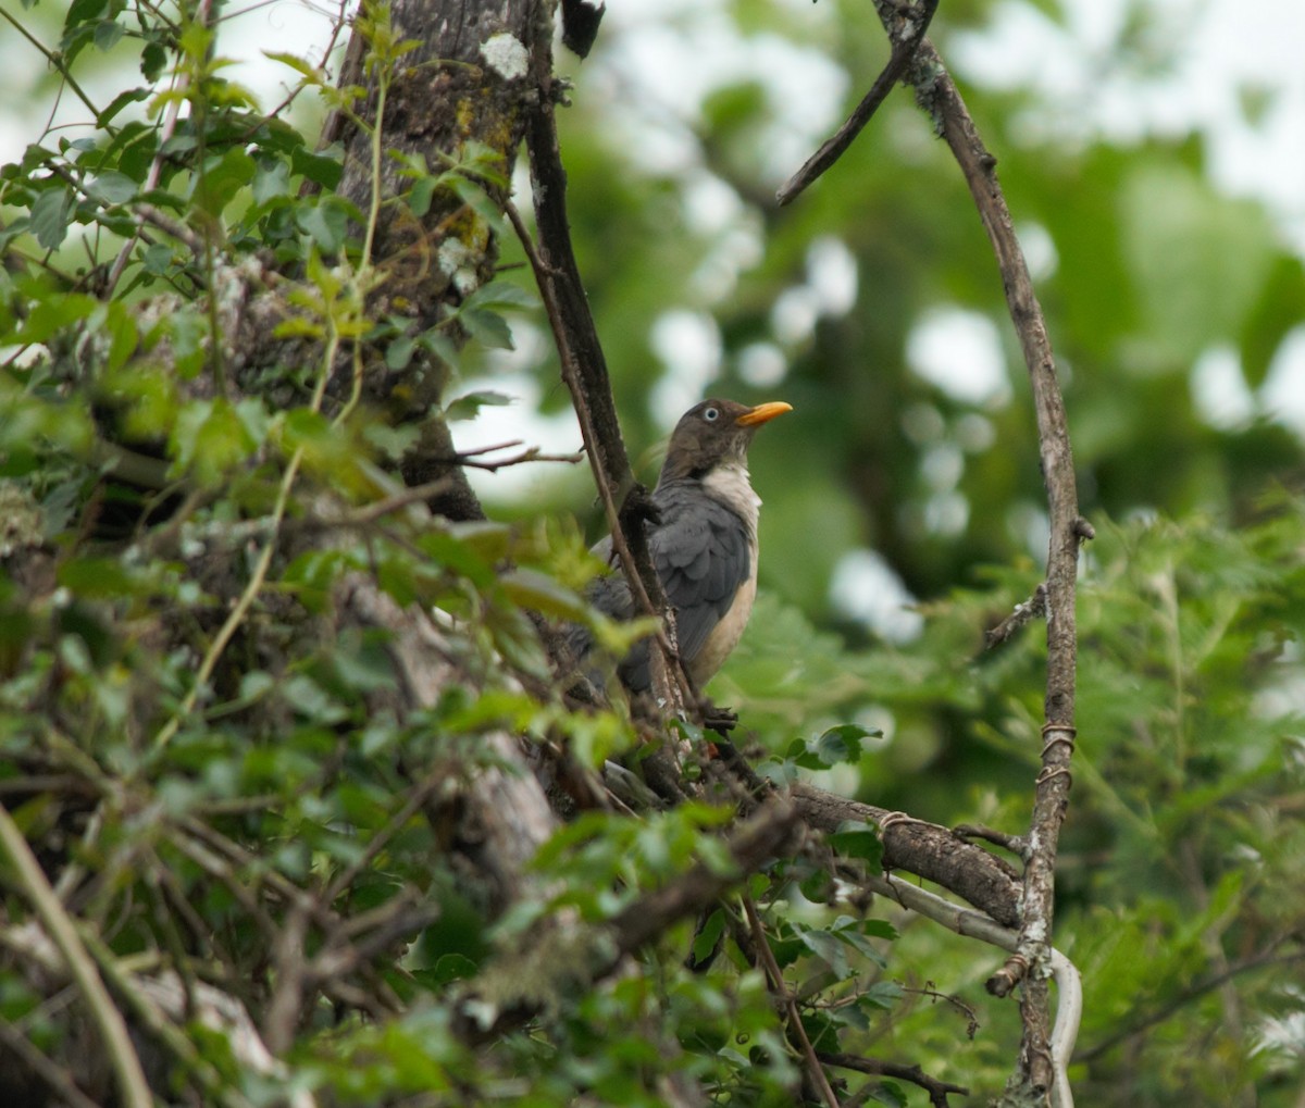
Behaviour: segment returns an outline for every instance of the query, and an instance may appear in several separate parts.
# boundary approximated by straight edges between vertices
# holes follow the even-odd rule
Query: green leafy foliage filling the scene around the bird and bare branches
[[[367,74],[384,85],[411,44],[369,17]],[[769,4],[733,18],[869,68],[860,35],[822,38]],[[718,1103],[792,1104],[803,1061],[765,942],[814,1049],[902,1053],[1000,1088],[1019,1028],[981,991],[996,955],[869,902],[847,878],[880,865],[865,826],[769,863],[612,975],[595,967],[622,911],[696,867],[741,877],[728,797],[578,814],[510,903],[470,869],[459,791],[519,773],[501,736],[566,750],[582,780],[613,761],[637,774],[655,753],[624,707],[576,711],[556,686],[543,621],[591,621],[613,650],[629,634],[583,602],[595,566],[556,519],[566,493],[505,508],[513,525],[431,518],[393,476],[415,429],[364,399],[377,367],[470,377],[540,325],[505,278],[467,283],[422,331],[373,308],[381,208],[420,219],[452,197],[502,235],[497,155],[474,141],[438,163],[382,150],[364,210],[334,192],[339,151],[262,114],[189,13],[76,3],[55,40],[69,73],[127,46],[140,77],[87,106],[87,136],[39,136],[0,170],[0,797],[124,1011],[150,1027],[142,983],[172,972],[188,996],[235,997],[278,1056],[251,1064],[185,1006],[155,1009],[144,1039],[168,1087],[191,1103],[660,1105],[692,1081]],[[603,51],[600,38],[594,64]],[[278,57],[375,134],[361,89]],[[723,388],[757,388],[756,365],[778,356],[803,416],[756,458],[770,587],[714,696],[741,707],[771,780],[1021,826],[1041,645],[1027,630],[984,653],[981,633],[1037,583],[1028,420],[906,367],[932,307],[1001,311],[944,161],[923,147],[919,176],[903,174],[891,136],[920,124],[890,115],[840,166],[857,191],[822,188],[783,222],[744,200],[767,172],[758,85],[703,104],[693,174],[637,164],[595,99],[577,99],[573,222],[633,437],[655,431],[652,322],[702,304]],[[1088,1103],[1291,1104],[1305,1052],[1291,984],[1305,513],[1266,489],[1298,469],[1298,444],[1278,425],[1203,423],[1186,378],[1231,343],[1249,384],[1263,380],[1298,321],[1300,260],[1258,208],[1214,191],[1190,144],[1048,149],[1005,121],[1014,104],[976,103],[1013,204],[1060,258],[1044,290],[1099,535],[1056,940],[1087,987],[1075,1085]],[[382,168],[397,196],[381,194]],[[737,201],[736,224],[693,222],[694,174]],[[1067,187],[1079,176],[1092,189]],[[736,265],[753,241],[754,264]],[[851,254],[856,303],[791,333],[773,305],[818,283],[813,241]],[[1212,271],[1216,285],[1186,279]],[[269,288],[291,311],[275,348],[243,363],[227,312]],[[502,395],[467,381],[442,411],[474,420]],[[833,609],[827,577],[865,543],[925,598],[916,638],[887,643]],[[397,707],[411,675],[395,634],[350,616],[359,582],[429,616],[453,676],[418,710]],[[51,1058],[85,1056],[85,1030],[46,1002],[59,967],[21,946],[30,890],[12,865],[4,881],[0,1015]],[[287,1022],[273,1000],[291,968],[307,1000]],[[514,1006],[529,1015],[489,1043],[465,1026]],[[99,1095],[102,1074],[72,1073]],[[923,1096],[887,1081],[864,1095]]]

